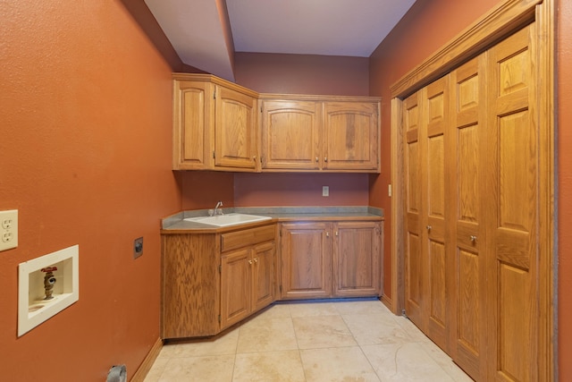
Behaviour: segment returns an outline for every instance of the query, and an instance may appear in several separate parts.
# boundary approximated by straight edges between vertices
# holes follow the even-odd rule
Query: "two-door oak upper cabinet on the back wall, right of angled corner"
[[[380,172],[380,100],[260,95],[262,171]]]

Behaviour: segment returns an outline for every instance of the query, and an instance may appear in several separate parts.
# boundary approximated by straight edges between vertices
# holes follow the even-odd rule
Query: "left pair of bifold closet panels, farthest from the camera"
[[[445,249],[445,138],[449,76],[404,101],[406,314],[449,349],[452,263]]]

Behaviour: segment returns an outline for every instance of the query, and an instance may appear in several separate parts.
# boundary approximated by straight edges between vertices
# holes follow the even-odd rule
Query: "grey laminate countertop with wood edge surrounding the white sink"
[[[368,206],[357,207],[240,207],[222,208],[223,214],[240,213],[268,216],[271,220],[219,227],[184,220],[188,217],[208,216],[208,209],[181,211],[161,220],[161,233],[219,233],[267,225],[274,222],[305,222],[328,220],[383,220],[383,209]]]

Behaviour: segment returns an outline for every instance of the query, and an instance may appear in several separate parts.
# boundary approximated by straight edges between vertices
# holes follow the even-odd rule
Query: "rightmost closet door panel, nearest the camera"
[[[536,49],[531,24],[488,51],[489,380],[538,380]]]

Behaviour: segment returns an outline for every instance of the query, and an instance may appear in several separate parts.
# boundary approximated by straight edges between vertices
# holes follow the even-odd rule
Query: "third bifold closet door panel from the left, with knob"
[[[454,253],[455,317],[451,357],[475,380],[486,376],[486,56],[450,73],[447,224]]]

